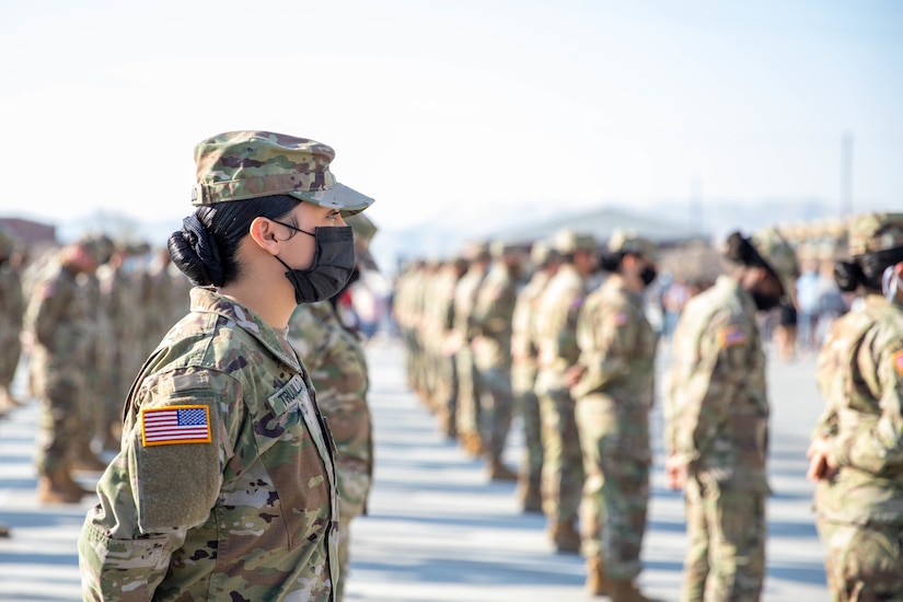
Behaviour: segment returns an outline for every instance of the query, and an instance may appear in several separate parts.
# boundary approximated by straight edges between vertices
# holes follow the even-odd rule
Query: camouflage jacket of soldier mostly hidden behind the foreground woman
[[[336,444],[341,513],[364,512],[373,475],[373,441],[367,357],[357,336],[338,321],[328,301],[305,303],[289,321],[289,343],[304,360],[316,402]]]

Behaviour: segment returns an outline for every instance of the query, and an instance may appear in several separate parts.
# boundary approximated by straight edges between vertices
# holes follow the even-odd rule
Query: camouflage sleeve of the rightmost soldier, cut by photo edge
[[[883,336],[882,336],[883,335]],[[903,336],[870,331],[859,347],[863,380],[878,401],[879,414],[863,414],[856,428],[834,443],[841,466],[875,475],[903,472]]]

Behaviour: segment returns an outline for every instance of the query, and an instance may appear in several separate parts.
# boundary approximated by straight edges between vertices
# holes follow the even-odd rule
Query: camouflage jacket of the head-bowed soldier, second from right
[[[764,494],[769,408],[755,313],[727,276],[687,302],[674,331],[665,445],[691,475]]]

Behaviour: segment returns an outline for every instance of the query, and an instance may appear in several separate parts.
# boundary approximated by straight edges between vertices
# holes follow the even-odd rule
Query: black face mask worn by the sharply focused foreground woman
[[[299,305],[315,303],[340,291],[355,270],[355,235],[351,227],[316,228],[311,234],[287,223],[282,225],[316,239],[313,264],[308,269],[292,269],[276,257],[288,268],[286,278],[294,287],[294,302]]]

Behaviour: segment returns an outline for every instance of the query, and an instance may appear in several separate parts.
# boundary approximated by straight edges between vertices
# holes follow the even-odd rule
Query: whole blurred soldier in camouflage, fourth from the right
[[[583,460],[574,398],[565,375],[580,356],[577,316],[587,294],[587,280],[595,269],[597,246],[589,234],[563,230],[555,234],[553,248],[562,256],[562,265],[543,292],[536,316],[543,512],[555,549],[572,553],[580,549],[576,522],[583,490]]]

